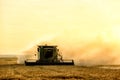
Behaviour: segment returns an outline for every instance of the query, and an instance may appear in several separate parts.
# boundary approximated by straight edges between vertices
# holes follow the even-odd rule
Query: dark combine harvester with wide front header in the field
[[[38,60],[25,60],[25,65],[74,65],[73,60],[63,60],[57,46],[39,45]]]

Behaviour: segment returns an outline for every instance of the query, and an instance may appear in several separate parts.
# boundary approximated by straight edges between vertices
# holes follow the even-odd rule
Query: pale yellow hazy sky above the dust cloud
[[[0,52],[4,54],[64,34],[116,41],[119,31],[119,0],[0,0]]]

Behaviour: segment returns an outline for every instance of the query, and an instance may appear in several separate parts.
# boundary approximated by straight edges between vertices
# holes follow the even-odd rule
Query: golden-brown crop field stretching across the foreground
[[[4,64],[0,65],[0,80],[120,80],[120,69],[100,67],[25,66],[24,64],[10,64],[10,62],[5,64],[4,61]]]

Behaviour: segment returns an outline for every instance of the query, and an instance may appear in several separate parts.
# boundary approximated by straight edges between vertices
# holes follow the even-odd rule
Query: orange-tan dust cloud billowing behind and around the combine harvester
[[[48,35],[43,39],[37,40],[37,43],[22,53],[25,58],[33,58],[34,54],[37,53],[37,45],[58,45],[63,58],[74,59],[76,65],[120,64],[119,42],[115,42],[112,38],[104,39],[99,34],[89,36],[89,38],[85,37],[84,39],[82,36],[73,35],[77,34],[69,36],[69,33],[66,33],[54,37]]]

